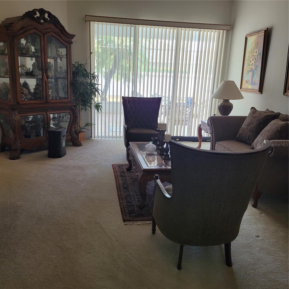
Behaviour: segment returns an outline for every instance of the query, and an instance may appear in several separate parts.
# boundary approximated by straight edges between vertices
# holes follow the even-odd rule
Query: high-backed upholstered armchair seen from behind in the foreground
[[[239,233],[243,215],[270,151],[269,141],[246,152],[195,149],[170,141],[173,185],[164,188],[155,176],[152,232],[156,225],[169,240],[184,245],[225,244],[231,262],[231,242]]]

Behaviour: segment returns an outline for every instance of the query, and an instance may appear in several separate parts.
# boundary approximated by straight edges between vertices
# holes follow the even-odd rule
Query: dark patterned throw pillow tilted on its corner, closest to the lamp
[[[279,115],[280,112],[269,113],[252,107],[235,140],[251,145],[260,132]]]

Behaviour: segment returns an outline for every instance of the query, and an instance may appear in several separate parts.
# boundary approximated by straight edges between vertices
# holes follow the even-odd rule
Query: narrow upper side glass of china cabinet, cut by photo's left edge
[[[0,41],[0,100],[10,101],[7,42]]]

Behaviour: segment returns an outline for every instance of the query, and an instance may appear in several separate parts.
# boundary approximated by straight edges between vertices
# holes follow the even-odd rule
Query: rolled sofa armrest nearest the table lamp
[[[211,150],[216,142],[234,140],[247,116],[210,116],[208,125],[211,131]]]

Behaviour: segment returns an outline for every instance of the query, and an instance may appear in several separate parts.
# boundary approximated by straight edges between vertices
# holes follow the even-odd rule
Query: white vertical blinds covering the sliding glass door
[[[96,138],[122,138],[122,96],[162,97],[159,122],[174,136],[196,136],[217,112],[226,30],[91,22],[90,33],[103,106],[93,115]]]

